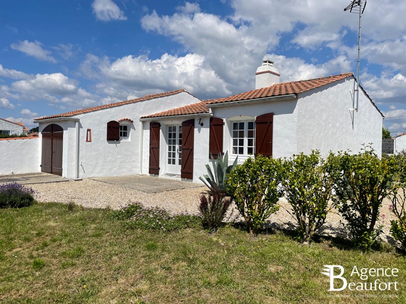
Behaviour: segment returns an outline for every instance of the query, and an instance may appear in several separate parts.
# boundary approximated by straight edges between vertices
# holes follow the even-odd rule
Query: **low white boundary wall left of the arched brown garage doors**
[[[0,140],[0,174],[40,172],[40,139]]]

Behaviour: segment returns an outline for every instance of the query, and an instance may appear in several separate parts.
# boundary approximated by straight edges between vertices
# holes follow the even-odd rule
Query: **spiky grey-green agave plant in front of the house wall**
[[[213,160],[212,155],[212,160]],[[209,174],[200,176],[199,179],[204,182],[210,189],[210,192],[219,190],[220,192],[226,192],[225,182],[227,181],[227,174],[235,168],[238,161],[238,157],[234,163],[228,166],[228,151],[225,153],[224,158],[221,154],[217,157],[217,160],[213,161],[213,171],[209,165],[206,165],[207,172]],[[214,174],[213,174],[214,172]]]

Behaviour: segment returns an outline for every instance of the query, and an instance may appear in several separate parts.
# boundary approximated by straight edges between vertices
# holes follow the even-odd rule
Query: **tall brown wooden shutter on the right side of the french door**
[[[194,119],[182,123],[181,178],[193,179]]]

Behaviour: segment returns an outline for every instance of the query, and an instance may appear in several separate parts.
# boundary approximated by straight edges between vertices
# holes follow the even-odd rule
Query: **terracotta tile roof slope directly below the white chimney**
[[[224,103],[224,102],[231,102],[231,101],[241,101],[241,100],[250,100],[250,99],[257,99],[257,98],[265,98],[265,97],[274,97],[274,96],[283,96],[283,95],[290,95],[290,94],[298,94],[309,91],[311,89],[315,89],[332,82],[345,79],[347,77],[353,76],[353,73],[346,73],[340,75],[334,75],[329,77],[322,77],[316,79],[309,79],[309,80],[300,80],[300,81],[293,81],[289,83],[280,83],[275,84],[270,87],[257,89],[245,93],[241,93],[238,95],[226,97],[226,98],[219,98],[219,99],[211,99],[207,100],[207,105],[210,104],[217,104],[217,103]]]

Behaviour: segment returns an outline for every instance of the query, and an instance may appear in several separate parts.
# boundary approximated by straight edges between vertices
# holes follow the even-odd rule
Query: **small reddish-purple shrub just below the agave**
[[[230,205],[231,199],[226,197],[225,192],[218,189],[214,189],[208,194],[202,194],[198,209],[203,226],[210,230],[217,229],[224,220]]]

